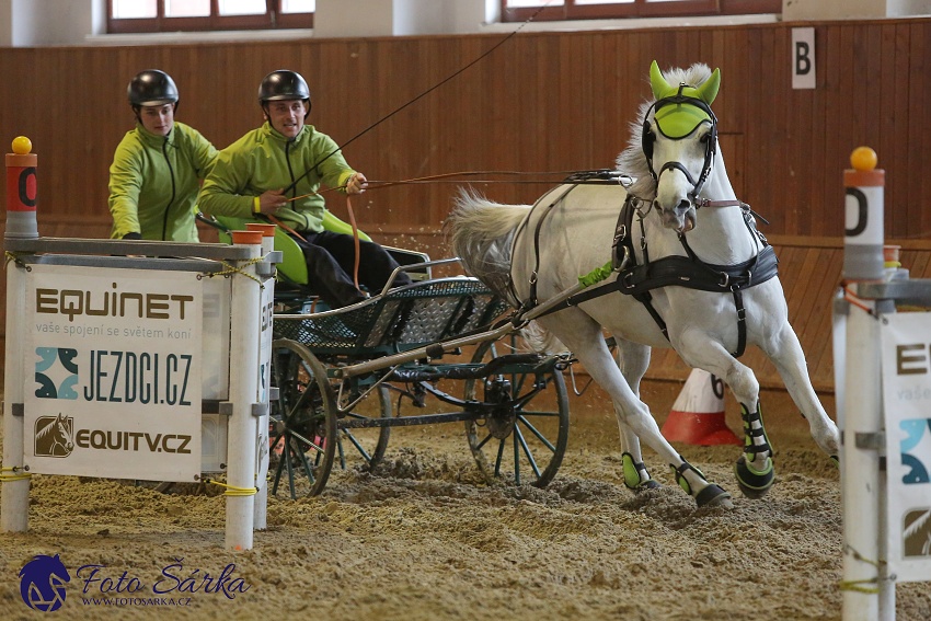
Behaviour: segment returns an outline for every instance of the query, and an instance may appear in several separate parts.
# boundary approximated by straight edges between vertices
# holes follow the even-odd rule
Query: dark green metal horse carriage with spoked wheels
[[[489,483],[552,481],[568,440],[568,355],[515,353],[517,326],[493,325],[503,300],[472,277],[430,278],[449,263],[402,263],[424,279],[345,309],[276,292],[273,494],[317,495],[334,464],[375,470],[392,427],[453,422]],[[447,411],[400,415],[427,400]]]

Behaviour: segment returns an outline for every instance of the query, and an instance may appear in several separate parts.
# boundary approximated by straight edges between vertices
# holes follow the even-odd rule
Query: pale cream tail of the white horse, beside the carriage
[[[512,303],[517,300],[509,294],[510,246],[529,212],[529,205],[502,205],[463,188],[444,223],[444,233],[465,272]]]

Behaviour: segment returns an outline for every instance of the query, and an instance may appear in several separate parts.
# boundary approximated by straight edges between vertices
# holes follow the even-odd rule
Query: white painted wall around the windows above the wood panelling
[[[317,0],[315,37],[403,36],[513,31],[498,24],[498,0]],[[931,15],[931,0],[783,0],[783,21]],[[771,20],[772,18],[770,18]],[[766,21],[766,16],[757,16]],[[674,25],[744,23],[746,20],[698,18]],[[537,22],[527,31],[664,27],[668,20]],[[157,45],[194,41],[244,41],[307,37],[309,31],[241,33],[161,33],[107,35],[106,0],[0,0],[0,47],[55,45]]]

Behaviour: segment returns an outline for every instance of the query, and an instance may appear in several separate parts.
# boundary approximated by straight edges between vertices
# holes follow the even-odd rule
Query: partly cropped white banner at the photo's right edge
[[[931,313],[884,318],[889,573],[931,580]]]

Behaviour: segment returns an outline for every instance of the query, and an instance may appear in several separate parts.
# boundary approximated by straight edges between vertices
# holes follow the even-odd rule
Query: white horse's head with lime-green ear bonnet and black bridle
[[[717,118],[711,103],[721,71],[704,65],[671,70],[670,83],[654,60],[650,83],[655,101],[645,106],[642,158],[653,182],[653,205],[663,226],[686,232],[696,226],[696,208],[717,150]]]

